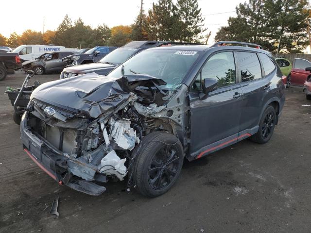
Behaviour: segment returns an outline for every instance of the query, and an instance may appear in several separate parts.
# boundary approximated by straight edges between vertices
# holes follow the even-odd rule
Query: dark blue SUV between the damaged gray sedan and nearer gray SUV
[[[65,66],[78,66],[81,64],[96,63],[117,48],[118,47],[96,46],[91,50],[87,50],[85,53],[65,57],[63,59],[63,63]]]

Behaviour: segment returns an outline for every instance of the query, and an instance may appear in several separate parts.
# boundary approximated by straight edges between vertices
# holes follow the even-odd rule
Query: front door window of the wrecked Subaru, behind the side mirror
[[[216,79],[218,87],[236,82],[233,52],[220,52],[210,57],[202,69],[202,80]]]

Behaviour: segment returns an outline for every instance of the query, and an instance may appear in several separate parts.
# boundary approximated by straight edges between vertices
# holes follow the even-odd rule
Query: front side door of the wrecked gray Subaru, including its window
[[[208,58],[192,83],[190,96],[191,156],[218,149],[237,141],[242,106],[242,88],[237,83],[232,51],[223,51]],[[202,80],[218,80],[216,90],[205,100],[199,99]]]

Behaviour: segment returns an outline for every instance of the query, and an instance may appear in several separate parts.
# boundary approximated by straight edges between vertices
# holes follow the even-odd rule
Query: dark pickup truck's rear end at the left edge
[[[7,74],[14,74],[14,70],[21,68],[20,58],[16,52],[0,53],[0,81]]]

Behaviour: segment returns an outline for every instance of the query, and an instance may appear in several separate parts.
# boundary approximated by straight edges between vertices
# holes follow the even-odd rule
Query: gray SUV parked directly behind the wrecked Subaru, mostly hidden
[[[66,67],[60,75],[60,79],[74,77],[80,74],[95,72],[100,75],[106,75],[115,67],[119,66],[131,56],[134,56],[142,50],[152,47],[171,46],[171,45],[187,45],[193,43],[172,42],[172,41],[131,41],[126,45],[118,48],[96,64],[85,64],[80,66]]]

